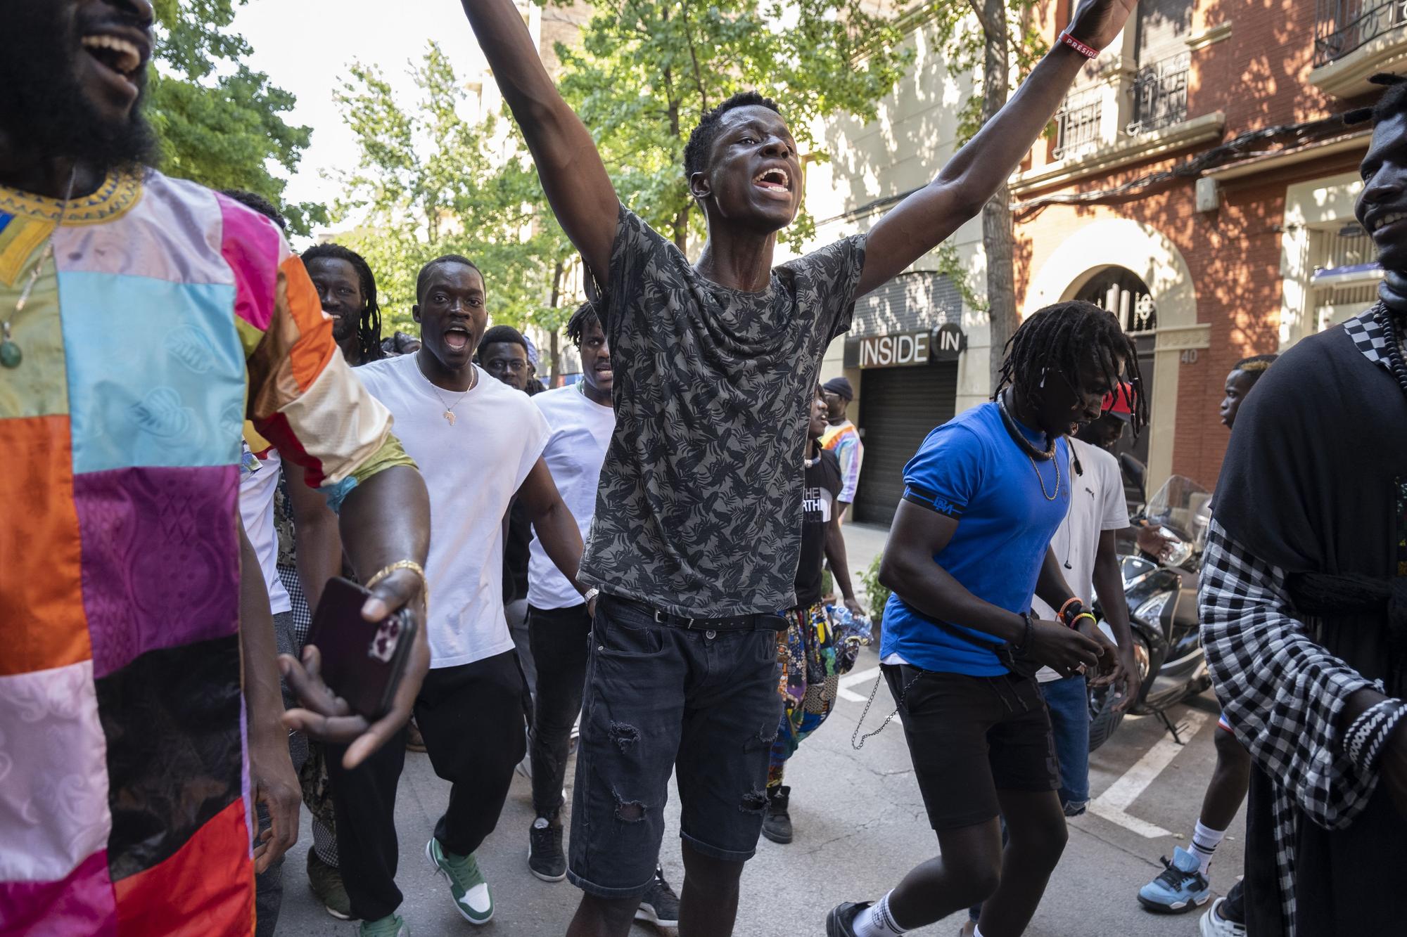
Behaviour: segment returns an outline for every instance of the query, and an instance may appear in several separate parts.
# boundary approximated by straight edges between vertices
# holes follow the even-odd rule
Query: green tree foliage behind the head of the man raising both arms
[[[734,91],[775,98],[803,152],[812,121],[875,117],[909,62],[902,32],[861,0],[602,0],[580,49],[557,45],[559,87],[597,138],[620,200],[684,249],[704,222],[684,179],[684,144]],[[825,153],[812,152],[812,159]],[[794,243],[815,231],[788,229]]]

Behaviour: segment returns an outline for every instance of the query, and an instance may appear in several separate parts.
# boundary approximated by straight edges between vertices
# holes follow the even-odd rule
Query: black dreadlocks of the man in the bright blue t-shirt
[[[1086,388],[1079,385],[1079,366],[1090,355],[1095,356],[1104,383],[1117,387],[1123,381],[1119,364],[1121,359],[1123,370],[1133,384],[1134,414],[1130,422],[1134,438],[1148,425],[1148,395],[1142,391],[1138,349],[1124,335],[1113,312],[1083,300],[1047,305],[1021,322],[1005,350],[1006,360],[1002,362],[1002,376],[992,400],[1006,387],[1014,387],[1027,400],[1040,398],[1047,371],[1059,371],[1071,387],[1085,393]]]

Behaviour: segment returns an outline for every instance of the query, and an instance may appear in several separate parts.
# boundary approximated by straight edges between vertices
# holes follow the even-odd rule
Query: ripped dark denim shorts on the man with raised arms
[[[680,836],[704,855],[751,858],[781,715],[775,630],[660,625],[602,595],[581,705],[571,884],[599,898],[644,892],[674,770]]]

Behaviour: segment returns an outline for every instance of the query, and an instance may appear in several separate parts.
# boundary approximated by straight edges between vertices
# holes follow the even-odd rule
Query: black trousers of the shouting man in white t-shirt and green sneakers
[[[450,782],[449,806],[435,824],[445,851],[469,855],[498,824],[514,767],[528,743],[523,677],[512,651],[431,670],[415,699],[415,723],[435,774]],[[346,747],[328,747],[328,777],[338,817],[338,858],[352,913],[378,920],[401,905],[395,886],[395,788],[405,764],[398,733],[355,771]]]

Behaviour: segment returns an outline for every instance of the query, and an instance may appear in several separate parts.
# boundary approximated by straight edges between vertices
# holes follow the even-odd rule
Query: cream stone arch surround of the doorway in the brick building
[[[1172,474],[1172,445],[1178,422],[1179,357],[1210,346],[1210,326],[1197,324],[1197,293],[1182,252],[1158,229],[1130,218],[1090,221],[1065,236],[1051,252],[1026,291],[1026,310],[1083,297],[1083,290],[1112,267],[1135,277],[1152,297],[1152,340],[1157,383],[1148,390],[1148,490]],[[1072,274],[1074,272],[1074,274]],[[1104,295],[1110,284],[1103,284]],[[1135,297],[1130,297],[1133,304]],[[1142,346],[1147,338],[1138,338]],[[1144,356],[1140,355],[1140,363]]]

